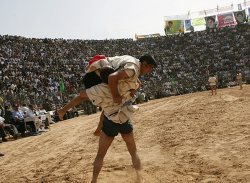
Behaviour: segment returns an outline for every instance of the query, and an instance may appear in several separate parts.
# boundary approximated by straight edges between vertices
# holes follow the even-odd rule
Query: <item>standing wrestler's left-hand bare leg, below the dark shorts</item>
[[[97,182],[97,177],[102,169],[103,159],[107,153],[108,148],[113,142],[114,137],[109,137],[105,133],[101,133],[99,139],[99,148],[94,161],[93,177],[91,183]]]

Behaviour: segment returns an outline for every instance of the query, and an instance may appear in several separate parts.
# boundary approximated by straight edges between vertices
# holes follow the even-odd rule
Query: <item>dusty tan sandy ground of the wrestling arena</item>
[[[49,132],[0,144],[1,183],[90,182],[99,114],[51,126]],[[152,100],[133,116],[145,183],[249,183],[250,85]],[[135,183],[121,137],[99,183]]]

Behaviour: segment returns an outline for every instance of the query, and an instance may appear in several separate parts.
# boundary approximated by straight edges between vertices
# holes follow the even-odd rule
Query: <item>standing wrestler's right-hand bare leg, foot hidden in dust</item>
[[[141,169],[141,160],[137,154],[137,148],[135,145],[133,132],[131,132],[129,134],[122,134],[122,138],[126,142],[129,154],[131,155],[131,158],[132,158],[132,163],[133,163],[134,168],[136,170],[140,170]]]

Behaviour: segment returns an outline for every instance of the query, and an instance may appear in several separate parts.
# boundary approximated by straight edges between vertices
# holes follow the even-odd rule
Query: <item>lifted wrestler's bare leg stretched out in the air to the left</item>
[[[59,119],[60,120],[63,120],[63,116],[65,115],[65,113],[75,107],[76,105],[79,105],[81,102],[83,101],[86,101],[86,100],[89,100],[87,94],[86,94],[86,91],[85,90],[82,90],[80,91],[80,94],[73,98],[69,103],[67,103],[63,108],[57,110],[57,113],[58,113],[58,116],[59,116]]]

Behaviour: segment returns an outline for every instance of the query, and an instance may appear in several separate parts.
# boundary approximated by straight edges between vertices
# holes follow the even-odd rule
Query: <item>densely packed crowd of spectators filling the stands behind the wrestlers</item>
[[[82,87],[88,61],[106,56],[149,53],[158,67],[142,78],[142,92],[150,98],[208,89],[208,77],[219,88],[235,81],[238,71],[250,80],[250,25],[225,27],[158,38],[112,40],[30,39],[0,36],[0,96],[5,104],[51,107],[63,105]]]

